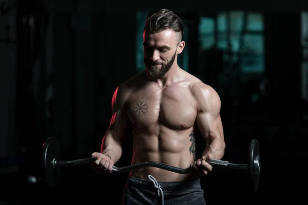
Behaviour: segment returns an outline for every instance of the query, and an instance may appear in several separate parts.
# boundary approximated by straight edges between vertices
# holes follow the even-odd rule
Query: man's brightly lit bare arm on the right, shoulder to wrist
[[[217,92],[203,83],[196,85],[195,94],[198,103],[197,124],[206,142],[202,159],[221,159],[225,142],[220,118],[221,101]]]

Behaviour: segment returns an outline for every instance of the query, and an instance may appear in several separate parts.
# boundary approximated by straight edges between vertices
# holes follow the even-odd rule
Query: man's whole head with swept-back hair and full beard
[[[185,46],[184,24],[167,9],[149,12],[143,32],[144,63],[151,79],[163,77]]]

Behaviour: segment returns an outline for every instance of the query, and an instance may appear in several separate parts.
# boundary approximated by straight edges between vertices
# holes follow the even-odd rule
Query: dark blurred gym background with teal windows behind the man
[[[0,0],[0,6],[0,204],[119,204],[128,173],[99,176],[90,165],[62,168],[60,187],[50,190],[41,180],[42,146],[54,137],[63,160],[100,150],[113,91],[144,69],[145,15],[157,8],[184,21],[180,66],[221,96],[223,160],[247,163],[249,142],[260,143],[259,192],[249,189],[244,171],[215,167],[202,178],[207,204],[296,204],[304,198],[304,0]],[[131,136],[128,131],[116,166],[130,164]]]

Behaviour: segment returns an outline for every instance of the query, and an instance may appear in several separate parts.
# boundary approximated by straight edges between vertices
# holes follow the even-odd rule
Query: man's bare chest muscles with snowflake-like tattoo
[[[188,88],[144,89],[130,96],[127,113],[132,124],[144,128],[163,125],[182,130],[194,126],[197,108]]]

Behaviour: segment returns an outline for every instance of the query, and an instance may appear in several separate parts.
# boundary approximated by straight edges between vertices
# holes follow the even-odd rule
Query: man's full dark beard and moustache
[[[156,79],[160,79],[163,76],[165,76],[166,73],[170,70],[172,64],[174,63],[176,59],[176,55],[177,55],[177,52],[171,57],[171,59],[168,61],[167,64],[160,63],[160,62],[150,62],[144,59],[146,72],[148,76],[150,77],[150,79],[156,80]],[[159,65],[161,65],[161,68],[158,67]]]

